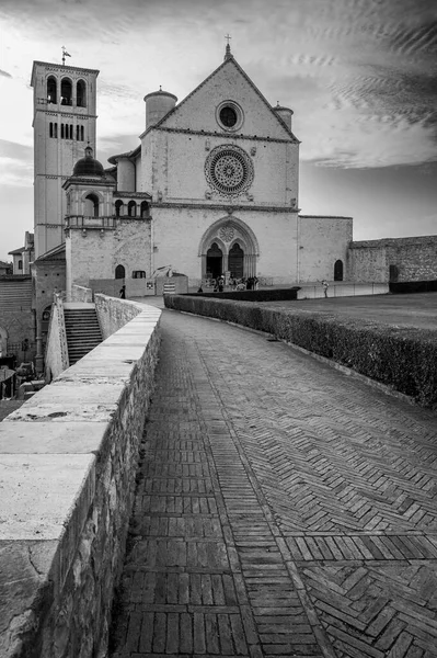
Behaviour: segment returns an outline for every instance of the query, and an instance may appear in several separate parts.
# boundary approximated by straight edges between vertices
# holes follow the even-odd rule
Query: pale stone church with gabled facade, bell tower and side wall
[[[180,103],[148,93],[138,147],[106,168],[94,157],[97,73],[34,64],[36,269],[65,249],[67,290],[164,268],[191,286],[346,277],[352,218],[300,213],[292,110],[272,105],[229,46]]]

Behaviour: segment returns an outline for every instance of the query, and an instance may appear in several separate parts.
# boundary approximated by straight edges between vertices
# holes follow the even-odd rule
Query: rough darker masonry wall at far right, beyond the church
[[[350,271],[355,281],[389,281],[390,266],[396,281],[437,280],[437,236],[386,238],[353,242]]]

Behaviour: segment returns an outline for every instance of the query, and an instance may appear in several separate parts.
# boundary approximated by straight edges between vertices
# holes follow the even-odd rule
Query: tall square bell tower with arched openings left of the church
[[[97,76],[94,69],[33,64],[35,258],[65,241],[62,183],[87,144],[95,152]]]

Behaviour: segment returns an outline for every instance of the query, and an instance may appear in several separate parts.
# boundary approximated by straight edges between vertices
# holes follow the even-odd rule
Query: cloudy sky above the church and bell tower
[[[139,145],[146,93],[183,100],[231,50],[294,110],[304,215],[354,239],[437,232],[435,0],[1,0],[0,260],[33,230],[33,60],[99,69],[97,158]]]

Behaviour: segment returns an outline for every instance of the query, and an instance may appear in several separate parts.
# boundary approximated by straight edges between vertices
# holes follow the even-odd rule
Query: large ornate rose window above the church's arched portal
[[[253,182],[252,160],[242,148],[228,144],[218,146],[205,163],[206,179],[211,188],[226,196],[245,192]]]

